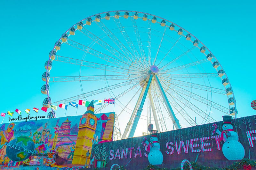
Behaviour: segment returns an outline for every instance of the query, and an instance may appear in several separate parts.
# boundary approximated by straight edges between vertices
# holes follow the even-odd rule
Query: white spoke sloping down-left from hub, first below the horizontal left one
[[[110,86],[103,87],[103,88],[100,88],[100,89],[97,89],[97,90],[93,90],[91,92],[86,92],[86,93],[83,93],[83,94],[79,94],[77,96],[73,96],[73,97],[70,97],[70,98],[67,98],[67,99],[64,99],[64,100],[59,100],[59,101],[56,101],[56,102],[53,102],[53,103],[60,103],[61,102],[61,103],[65,104],[65,103],[68,103],[69,101],[80,100],[80,99],[83,99],[84,96],[86,98],[86,97],[89,97],[89,96],[93,96],[95,94],[100,94],[100,93],[106,92],[108,90],[113,90],[113,89],[117,89],[117,88],[120,88],[120,87],[124,87],[126,85],[130,85],[130,84],[138,81],[138,79],[140,79],[140,78],[142,78],[142,76],[139,77],[139,78],[134,78],[132,80],[128,80],[128,81],[118,83],[118,84],[115,84],[115,85],[110,85]]]

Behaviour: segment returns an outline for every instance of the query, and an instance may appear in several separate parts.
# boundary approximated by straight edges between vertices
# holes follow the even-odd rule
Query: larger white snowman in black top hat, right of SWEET
[[[241,160],[244,158],[244,147],[238,142],[238,135],[233,130],[234,127],[231,124],[232,116],[222,116],[223,117],[223,131],[220,132],[219,129],[216,133],[220,135],[220,140],[225,143],[222,146],[223,155],[228,160]]]

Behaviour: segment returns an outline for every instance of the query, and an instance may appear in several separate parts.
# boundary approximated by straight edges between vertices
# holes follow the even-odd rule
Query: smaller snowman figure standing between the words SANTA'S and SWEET
[[[156,135],[151,135],[150,143],[147,140],[147,137],[144,137],[146,145],[148,145],[148,162],[152,165],[160,165],[163,163],[163,154],[160,151],[160,144],[158,143],[158,138]]]

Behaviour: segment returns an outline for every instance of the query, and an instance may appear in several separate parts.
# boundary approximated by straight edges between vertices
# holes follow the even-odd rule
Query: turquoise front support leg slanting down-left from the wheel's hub
[[[147,97],[147,94],[148,94],[148,89],[150,87],[150,83],[152,81],[152,78],[153,78],[153,73],[151,73],[150,76],[149,76],[147,87],[146,87],[145,92],[143,94],[143,97],[142,97],[142,100],[141,100],[141,103],[140,103],[140,107],[137,110],[136,116],[135,116],[134,121],[132,123],[132,129],[131,129],[130,134],[129,134],[128,137],[133,137],[133,135],[134,135],[135,129],[136,129],[136,127],[138,125],[138,122],[139,122],[139,119],[140,119],[140,115],[141,115],[141,112],[142,112],[142,107],[145,103],[145,100],[146,100],[146,97]]]

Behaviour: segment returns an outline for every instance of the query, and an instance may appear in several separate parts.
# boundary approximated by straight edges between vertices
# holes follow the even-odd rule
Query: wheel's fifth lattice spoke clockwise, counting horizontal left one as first
[[[119,41],[119,39],[107,28],[107,26],[105,26],[102,22],[96,22],[96,24],[102,29],[102,31],[104,33],[106,33],[109,38],[117,45],[117,47],[120,48],[121,51],[123,51],[124,55],[127,55],[127,59],[129,59],[131,62],[134,63],[134,61],[132,60],[133,58],[136,59],[136,61],[138,61],[138,63],[136,63],[139,67],[144,68],[145,70],[147,70],[147,68],[144,66],[143,63],[141,63],[140,60],[137,59],[136,56],[134,56],[126,47],[125,45]],[[139,64],[140,63],[140,64]]]

